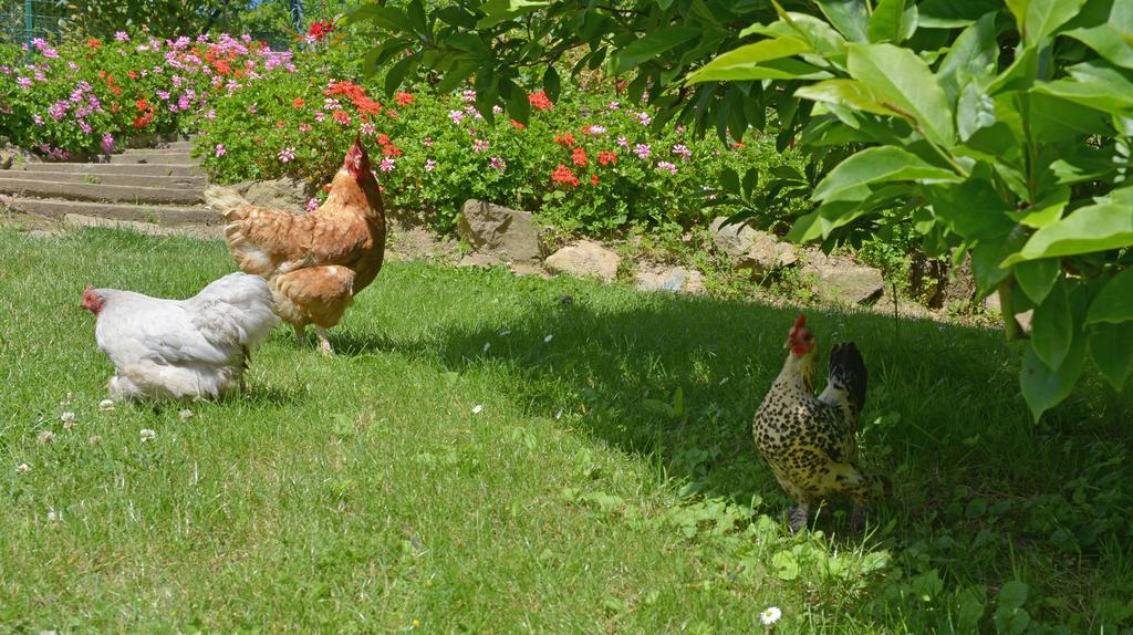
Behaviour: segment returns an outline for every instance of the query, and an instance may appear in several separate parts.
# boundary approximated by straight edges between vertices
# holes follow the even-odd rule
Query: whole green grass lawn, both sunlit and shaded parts
[[[1036,426],[999,333],[812,309],[824,352],[866,355],[894,492],[869,533],[836,506],[792,537],[751,418],[794,310],[393,263],[339,354],[280,327],[244,397],[101,411],[80,290],[232,269],[220,242],[0,230],[0,630],[1133,625],[1131,391],[1089,378]]]

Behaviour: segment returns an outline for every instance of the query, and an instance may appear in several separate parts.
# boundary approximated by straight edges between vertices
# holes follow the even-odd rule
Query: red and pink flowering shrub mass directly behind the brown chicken
[[[202,123],[205,168],[221,181],[289,174],[325,182],[359,132],[387,201],[453,228],[469,198],[536,211],[565,233],[629,224],[702,223],[705,189],[725,166],[786,158],[772,143],[725,149],[680,127],[657,134],[651,113],[611,94],[568,91],[553,104],[529,95],[528,126],[489,125],[475,94],[398,93],[378,101],[367,87],[304,72],[278,74],[215,102]]]

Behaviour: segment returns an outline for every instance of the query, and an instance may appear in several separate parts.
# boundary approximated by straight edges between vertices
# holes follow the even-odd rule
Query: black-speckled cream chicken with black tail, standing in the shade
[[[807,525],[811,505],[830,494],[854,503],[851,523],[860,526],[869,500],[883,481],[862,473],[858,455],[858,415],[866,402],[866,363],[853,343],[830,351],[826,389],[815,396],[817,344],[800,315],[784,347],[783,371],[756,411],[756,446],[783,490],[794,499],[787,513],[792,531]]]

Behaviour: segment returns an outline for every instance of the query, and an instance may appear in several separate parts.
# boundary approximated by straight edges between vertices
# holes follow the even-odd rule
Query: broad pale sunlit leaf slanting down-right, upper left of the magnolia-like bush
[[[850,75],[881,95],[930,141],[952,147],[955,127],[944,89],[928,65],[892,44],[850,44]]]

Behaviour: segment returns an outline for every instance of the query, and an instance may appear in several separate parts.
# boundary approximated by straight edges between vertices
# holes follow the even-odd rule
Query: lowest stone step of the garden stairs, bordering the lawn
[[[140,221],[161,226],[222,225],[223,216],[207,207],[173,207],[163,205],[122,205],[113,203],[83,203],[77,200],[44,200],[0,196],[0,204],[16,212],[62,220],[68,214]]]

